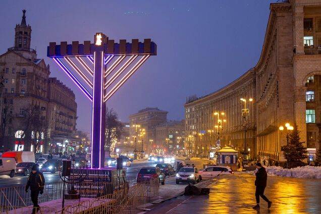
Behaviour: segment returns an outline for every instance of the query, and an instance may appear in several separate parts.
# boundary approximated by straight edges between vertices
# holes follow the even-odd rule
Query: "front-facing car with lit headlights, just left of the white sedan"
[[[180,182],[195,184],[199,181],[201,181],[201,177],[199,177],[198,170],[192,165],[183,166],[176,174],[176,184],[179,184]]]

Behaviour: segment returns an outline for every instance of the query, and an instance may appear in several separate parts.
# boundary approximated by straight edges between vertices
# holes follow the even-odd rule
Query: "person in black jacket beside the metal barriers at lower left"
[[[28,188],[30,187],[31,201],[33,202],[32,213],[37,213],[37,210],[39,210],[38,195],[39,193],[43,193],[44,177],[43,174],[39,172],[39,165],[34,165],[31,170],[32,173],[29,175],[25,190],[28,192]]]

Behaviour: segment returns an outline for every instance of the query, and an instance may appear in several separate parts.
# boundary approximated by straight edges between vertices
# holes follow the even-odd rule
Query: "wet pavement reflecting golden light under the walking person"
[[[260,198],[260,210],[252,209],[256,204],[254,180],[253,175],[221,175],[206,181],[210,188],[209,195],[181,196],[159,204],[148,214],[320,213],[320,179],[269,176],[264,194],[273,204],[267,209],[267,203]]]

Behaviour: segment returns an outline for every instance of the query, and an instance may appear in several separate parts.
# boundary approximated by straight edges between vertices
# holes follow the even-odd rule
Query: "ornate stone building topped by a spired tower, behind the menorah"
[[[35,108],[46,126],[40,133],[40,150],[58,151],[59,146],[66,147],[68,142],[76,140],[73,137],[77,119],[75,94],[56,78],[49,78],[49,66],[43,59],[37,59],[36,50],[30,48],[31,26],[26,24],[25,12],[21,24],[15,28],[14,47],[0,56],[3,80],[0,143],[3,149],[17,149],[15,142],[18,142],[23,145],[20,149],[30,150],[33,144],[29,141],[37,134],[33,130],[23,134],[23,130],[32,126],[27,111]]]

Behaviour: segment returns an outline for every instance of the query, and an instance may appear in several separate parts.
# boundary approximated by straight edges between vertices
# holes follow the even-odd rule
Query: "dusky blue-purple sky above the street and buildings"
[[[93,42],[95,32],[110,39],[151,38],[157,56],[145,64],[108,102],[122,121],[149,107],[184,119],[184,103],[232,82],[259,59],[270,3],[275,1],[12,1],[1,0],[0,53],[14,46],[22,9],[32,27],[31,48],[76,94],[77,129],[90,132],[91,104],[60,68],[46,57],[50,41]]]

